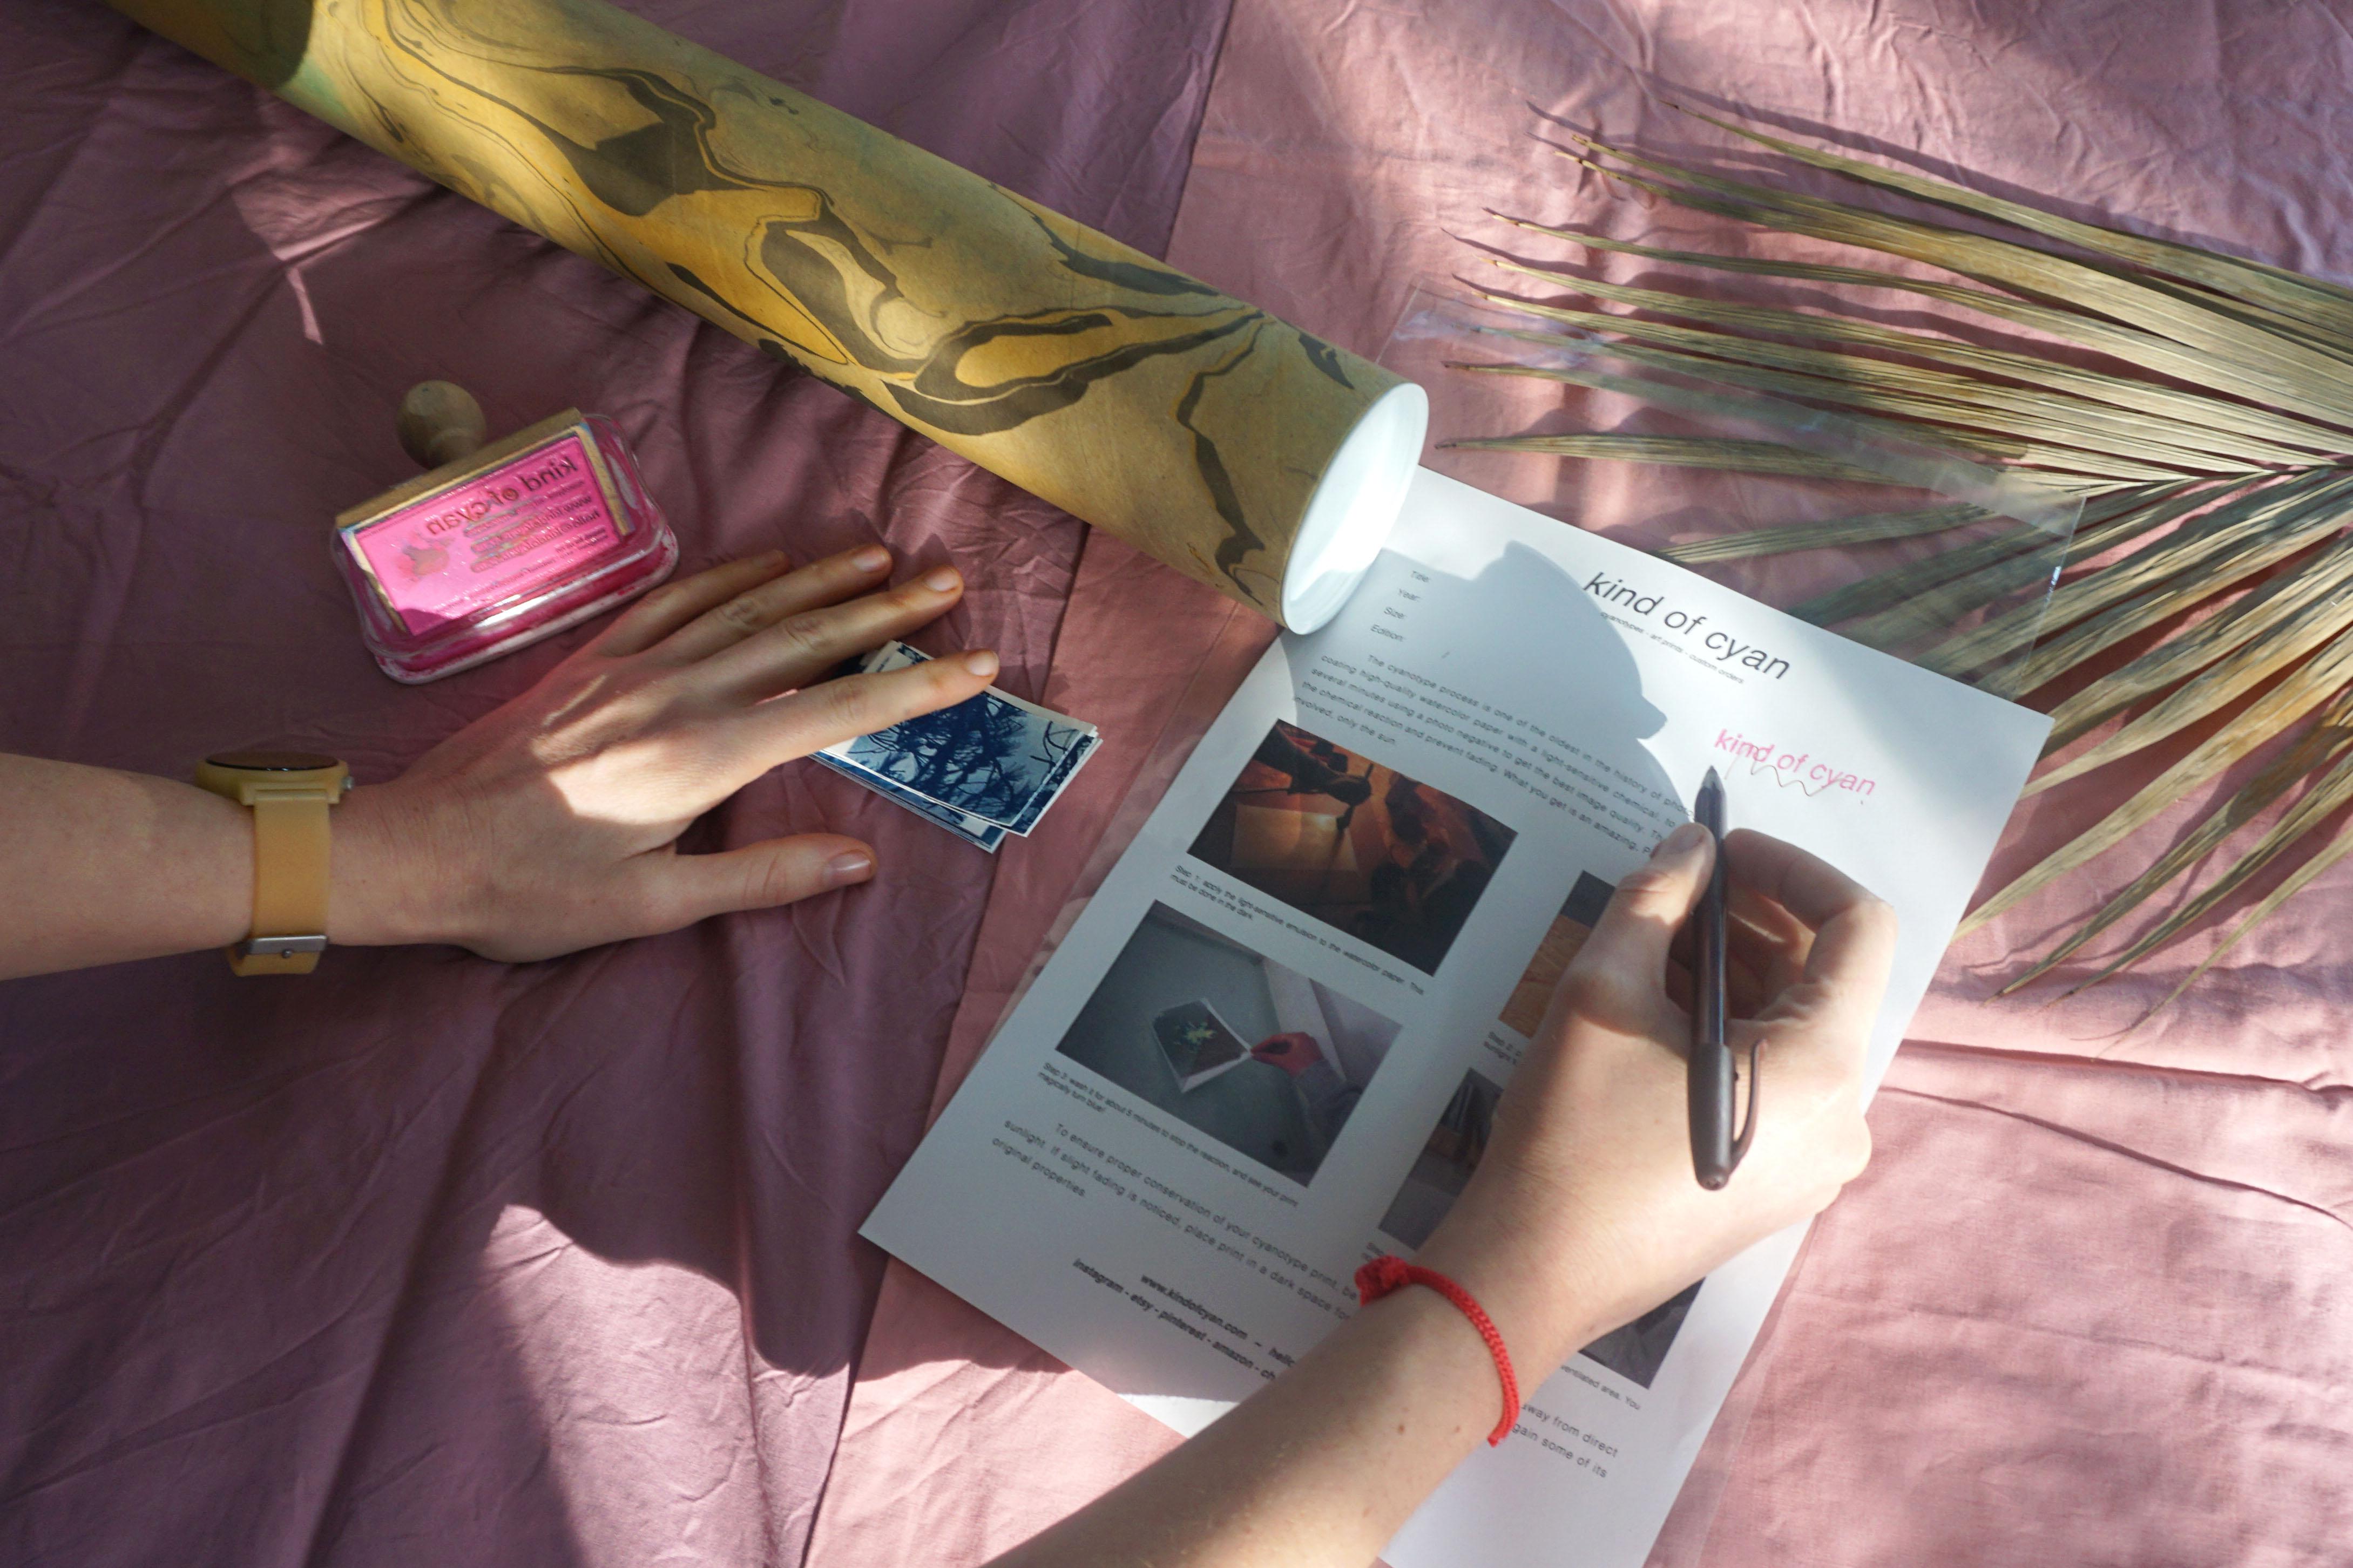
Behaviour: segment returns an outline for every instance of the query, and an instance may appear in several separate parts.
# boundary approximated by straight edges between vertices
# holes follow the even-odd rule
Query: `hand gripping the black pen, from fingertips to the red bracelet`
[[[1894,961],[1894,910],[1814,856],[1725,837],[1732,1046],[1758,1041],[1755,1143],[1732,1182],[1692,1175],[1689,1016],[1675,933],[1708,882],[1706,830],[1678,827],[1626,877],[1553,994],[1487,1154],[1419,1260],[1494,1316],[1527,1385],[1741,1248],[1819,1213],[1871,1157],[1864,1048]],[[1746,1103],[1746,1091],[1741,1095]]]

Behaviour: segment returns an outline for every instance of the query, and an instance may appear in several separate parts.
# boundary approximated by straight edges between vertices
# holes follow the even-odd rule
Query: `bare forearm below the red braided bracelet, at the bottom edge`
[[[1494,1361],[1461,1312],[1398,1291],[1000,1568],[1362,1568],[1499,1408]]]

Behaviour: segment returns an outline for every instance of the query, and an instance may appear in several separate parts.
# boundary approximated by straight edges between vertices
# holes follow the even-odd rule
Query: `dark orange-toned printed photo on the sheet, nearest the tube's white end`
[[[1193,858],[1433,976],[1513,837],[1442,790],[1275,722]]]

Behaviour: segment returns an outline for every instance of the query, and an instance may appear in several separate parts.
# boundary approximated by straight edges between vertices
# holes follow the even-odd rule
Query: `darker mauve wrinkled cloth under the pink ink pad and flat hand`
[[[1155,252],[1224,26],[631,2]],[[619,418],[685,569],[868,538],[958,564],[934,635],[1040,691],[1075,522],[113,12],[26,0],[0,748],[186,776],[296,743],[365,788],[576,646],[424,689],[360,649],[327,527],[412,473],[391,414],[426,376],[501,430]],[[1089,846],[1068,813],[991,860],[807,764],[689,842],[800,827],[873,839],[875,886],[551,964],[0,985],[0,1561],[800,1561],[882,1272],[852,1232],[991,882]]]

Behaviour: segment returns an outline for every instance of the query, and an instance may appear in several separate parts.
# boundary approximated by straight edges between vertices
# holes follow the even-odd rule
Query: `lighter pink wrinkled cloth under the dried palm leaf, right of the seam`
[[[1555,390],[1473,381],[1438,364],[1447,346],[1391,339],[1421,308],[1417,287],[1485,270],[1464,240],[1577,259],[1487,207],[1654,244],[1746,244],[1732,223],[1649,212],[1553,155],[1562,136],[1548,118],[1654,150],[1727,146],[1645,99],[1649,87],[2078,216],[2346,277],[2346,21],[2341,5],[2214,0],[1238,0],[1169,256],[1424,378],[1433,437],[1558,418]],[[1671,484],[1607,463],[1435,461],[1633,538]],[[1191,682],[1198,701],[1247,654],[1186,623],[1167,642],[1193,637],[1198,658],[1167,670],[1158,651],[1155,668],[1136,668],[1132,646],[1078,635],[1129,590],[1096,588],[1082,567],[1049,677],[1073,703],[1129,672],[1172,696]],[[1188,733],[1198,726],[1179,715],[1169,738]],[[2155,769],[2115,766],[2024,809],[1988,889]],[[2353,870],[2325,875],[2139,1032],[2122,1030],[2212,933],[2059,1006],[2045,1004],[2064,983],[1988,1001],[2198,804],[1953,950],[1873,1107],[1878,1157],[1809,1239],[1654,1563],[2344,1561],[2353,1046],[2339,1016],[2353,994],[2341,938]],[[1000,879],[951,1086],[1092,875]],[[1172,1443],[892,1265],[812,1559],[974,1563]],[[1577,1561],[1574,1542],[1560,1561]]]

